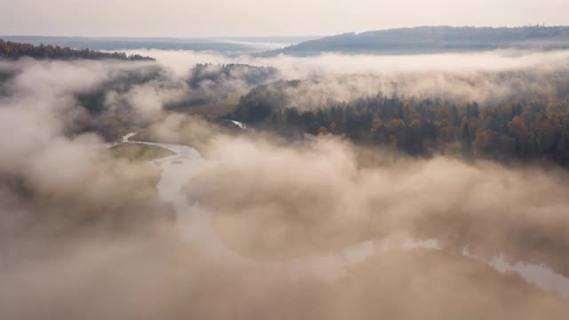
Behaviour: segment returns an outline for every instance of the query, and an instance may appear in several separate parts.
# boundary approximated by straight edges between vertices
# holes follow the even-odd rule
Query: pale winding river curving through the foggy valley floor
[[[238,125],[238,124],[237,124]],[[239,125],[240,127],[244,127]],[[192,245],[199,254],[207,257],[222,259],[224,262],[246,265],[252,268],[270,268],[284,271],[293,277],[302,274],[322,276],[326,279],[336,279],[349,276],[349,267],[365,258],[379,252],[388,250],[440,250],[441,246],[436,239],[414,242],[407,240],[403,243],[391,245],[389,241],[377,245],[374,241],[366,241],[349,246],[341,252],[334,252],[317,257],[298,258],[283,261],[260,261],[244,257],[232,252],[224,244],[212,228],[212,216],[199,204],[188,204],[183,192],[184,185],[198,173],[219,163],[204,159],[195,148],[179,144],[156,143],[131,140],[136,133],[126,134],[124,143],[143,143],[168,149],[174,153],[172,156],[158,158],[152,164],[161,171],[158,182],[158,196],[174,205],[177,215],[177,227],[180,236]],[[557,274],[551,268],[526,262],[511,264],[503,255],[490,259],[478,257],[469,253],[465,247],[461,254],[469,259],[485,262],[492,268],[504,272],[516,272],[525,281],[535,284],[546,291],[554,291],[569,298],[569,278]]]

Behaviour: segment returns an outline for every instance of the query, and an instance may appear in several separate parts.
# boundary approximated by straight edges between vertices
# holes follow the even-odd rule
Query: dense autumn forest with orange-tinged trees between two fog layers
[[[298,81],[281,85],[298,85]],[[290,135],[332,133],[415,156],[436,152],[498,159],[540,159],[569,165],[569,99],[512,101],[481,108],[477,102],[416,100],[378,94],[329,101],[315,110],[290,108],[282,92],[255,88],[229,116]]]

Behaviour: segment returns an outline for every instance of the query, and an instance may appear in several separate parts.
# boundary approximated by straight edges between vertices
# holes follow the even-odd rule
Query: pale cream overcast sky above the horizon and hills
[[[293,36],[569,25],[569,0],[0,0],[0,35]]]

